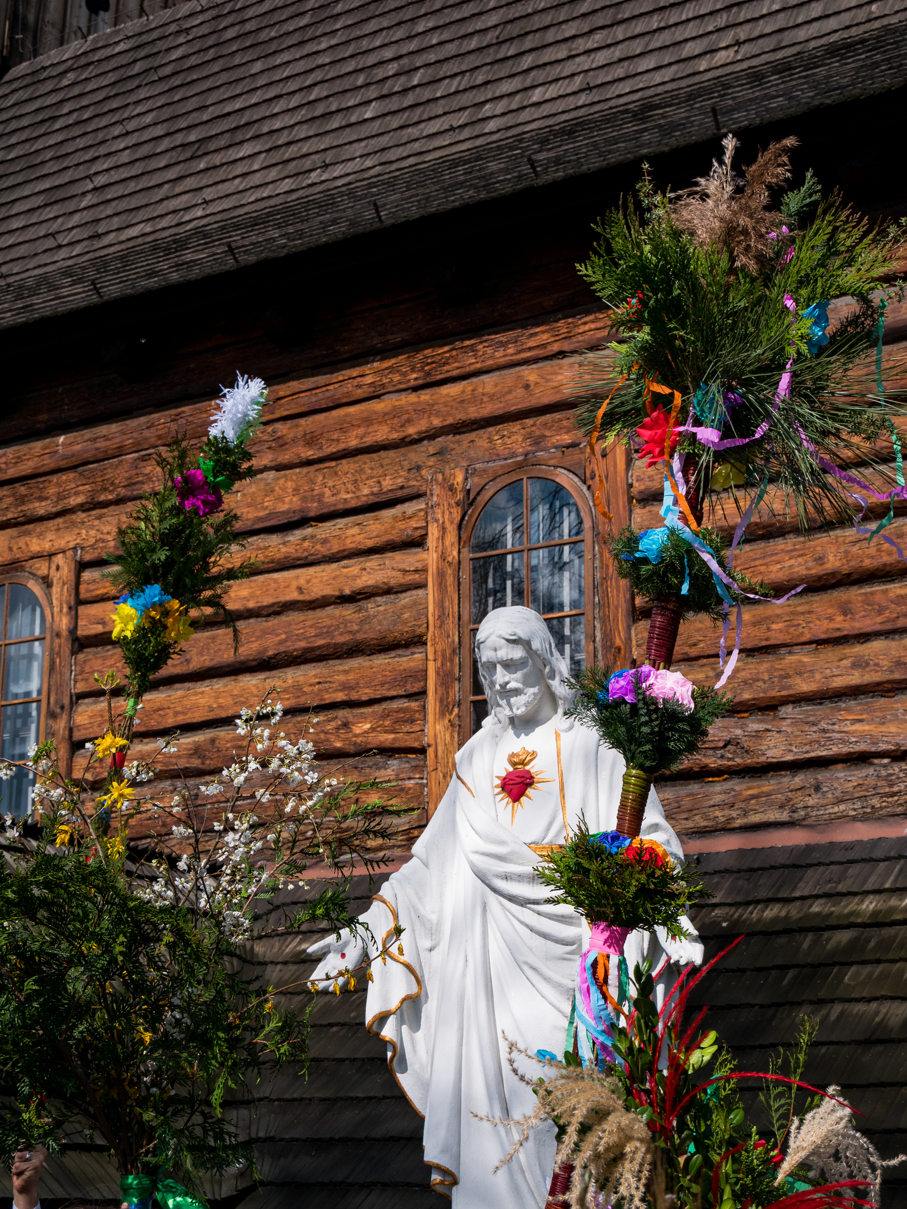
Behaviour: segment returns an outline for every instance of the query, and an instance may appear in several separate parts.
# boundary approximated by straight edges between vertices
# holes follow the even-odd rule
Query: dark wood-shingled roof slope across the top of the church
[[[0,83],[0,326],[905,80],[901,0],[190,0]]]

